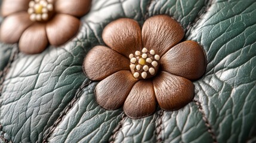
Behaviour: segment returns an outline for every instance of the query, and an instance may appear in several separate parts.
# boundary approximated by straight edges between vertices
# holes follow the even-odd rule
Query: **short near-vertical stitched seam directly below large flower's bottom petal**
[[[162,142],[162,117],[164,115],[164,110],[158,111],[158,119],[156,120],[156,142]]]

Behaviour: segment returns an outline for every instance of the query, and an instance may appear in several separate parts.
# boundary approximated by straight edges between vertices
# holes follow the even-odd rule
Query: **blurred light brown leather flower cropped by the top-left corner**
[[[37,54],[48,43],[59,46],[78,33],[90,0],[4,0],[1,41],[19,42],[21,52]]]

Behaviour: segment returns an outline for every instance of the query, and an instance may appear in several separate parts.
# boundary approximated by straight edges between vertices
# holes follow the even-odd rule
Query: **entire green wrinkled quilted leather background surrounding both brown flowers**
[[[256,1],[94,0],[75,39],[38,55],[12,54],[0,43],[0,140],[13,142],[254,142],[256,136]],[[199,42],[208,66],[194,81],[195,101],[177,111],[129,119],[94,97],[82,70],[87,52],[104,45],[104,27],[121,17],[143,24],[167,14]],[[2,18],[1,18],[2,21]],[[11,62],[13,61],[13,62]],[[11,65],[8,66],[8,63]],[[5,75],[5,76],[2,76]]]

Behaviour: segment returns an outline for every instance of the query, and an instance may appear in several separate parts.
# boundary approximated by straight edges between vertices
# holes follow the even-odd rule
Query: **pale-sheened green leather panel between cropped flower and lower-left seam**
[[[87,33],[80,33],[87,36]],[[82,61],[89,39],[39,55],[18,54],[1,95],[1,123],[14,142],[42,142],[44,133],[85,80]]]

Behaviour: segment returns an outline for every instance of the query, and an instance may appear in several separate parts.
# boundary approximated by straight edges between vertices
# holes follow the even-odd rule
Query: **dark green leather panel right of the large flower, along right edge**
[[[256,128],[256,2],[215,1],[189,39],[208,55],[196,98],[219,142],[246,142]]]

